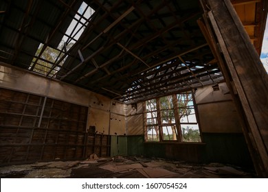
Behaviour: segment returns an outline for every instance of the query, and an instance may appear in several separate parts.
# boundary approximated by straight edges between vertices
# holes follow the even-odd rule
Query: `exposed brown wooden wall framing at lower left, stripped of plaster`
[[[87,107],[4,88],[0,97],[1,163],[83,157]]]

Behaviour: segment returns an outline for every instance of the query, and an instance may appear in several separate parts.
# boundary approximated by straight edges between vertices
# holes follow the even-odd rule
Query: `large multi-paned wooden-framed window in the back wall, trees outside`
[[[192,92],[146,101],[146,141],[201,142]]]

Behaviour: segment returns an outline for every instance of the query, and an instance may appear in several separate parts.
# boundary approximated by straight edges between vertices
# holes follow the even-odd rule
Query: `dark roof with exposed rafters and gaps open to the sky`
[[[125,103],[186,91],[224,80],[202,16],[199,0],[3,0],[0,61]]]

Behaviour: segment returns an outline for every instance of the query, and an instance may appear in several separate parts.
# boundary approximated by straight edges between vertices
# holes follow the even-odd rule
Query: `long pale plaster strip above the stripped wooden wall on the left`
[[[69,84],[49,80],[18,69],[0,66],[0,86],[88,106],[92,93]]]

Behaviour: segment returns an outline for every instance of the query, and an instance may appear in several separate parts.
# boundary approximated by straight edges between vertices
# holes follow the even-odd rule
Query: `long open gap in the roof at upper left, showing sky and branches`
[[[41,43],[30,64],[29,70],[49,77],[55,77],[68,57],[67,51],[77,42],[82,32],[85,31],[94,12],[87,3],[82,2],[74,19],[60,40],[58,47],[54,49]]]

